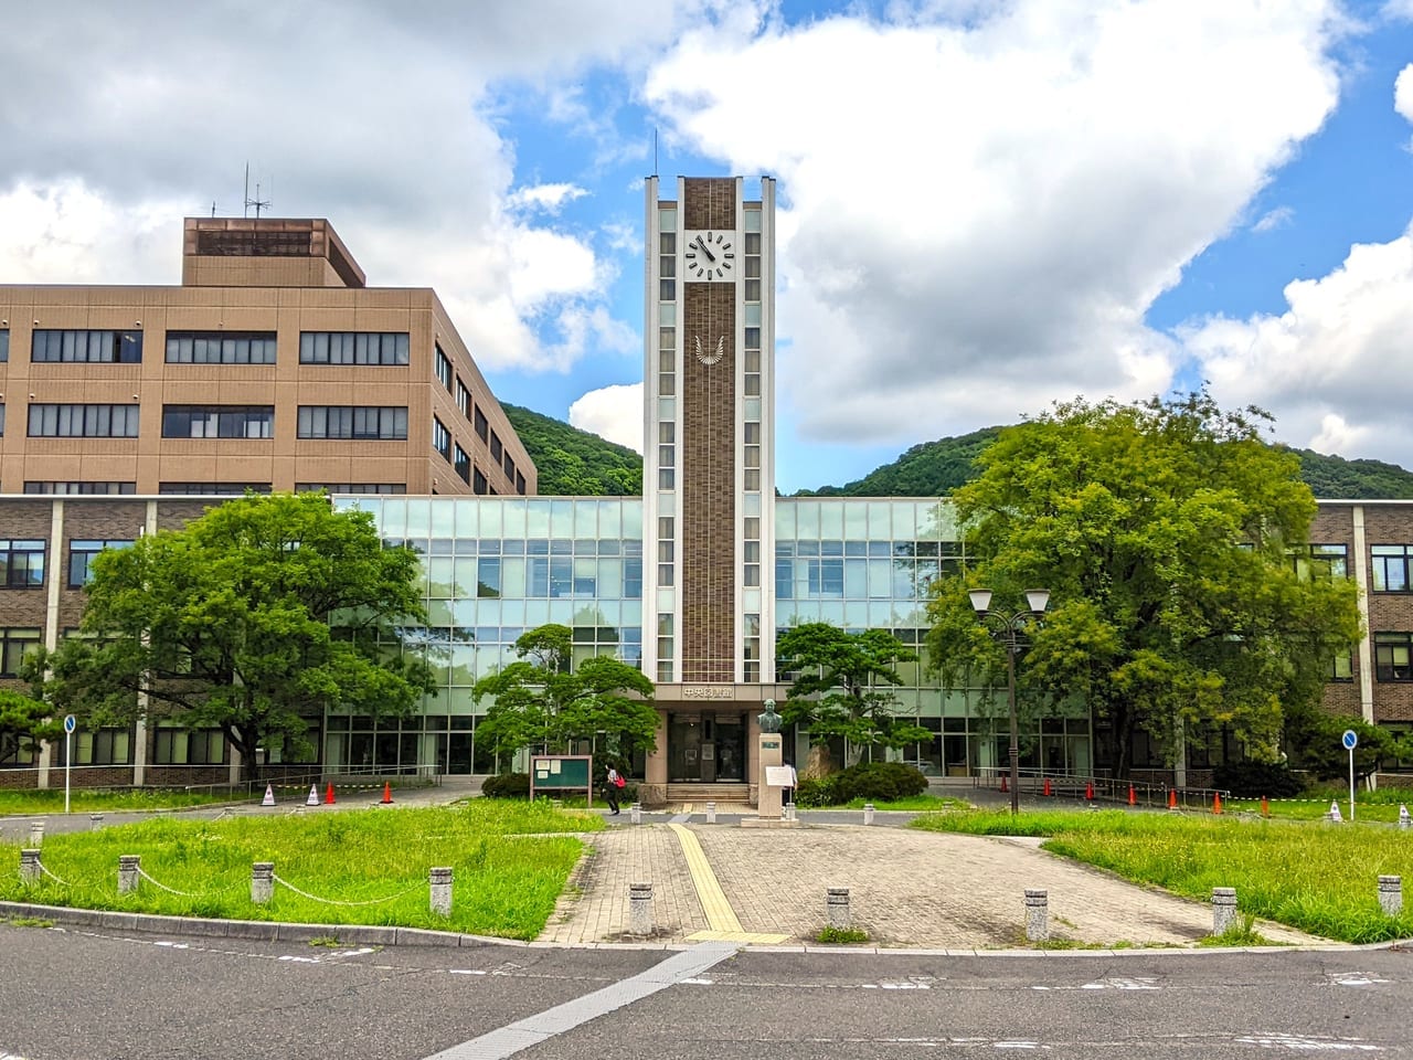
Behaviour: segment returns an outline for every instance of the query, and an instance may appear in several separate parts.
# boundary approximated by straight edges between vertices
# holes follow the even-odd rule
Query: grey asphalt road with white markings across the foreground
[[[1407,951],[372,951],[0,924],[4,1060],[1413,1057],[1410,1011]]]

